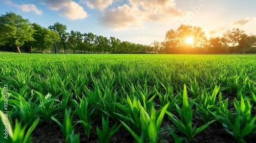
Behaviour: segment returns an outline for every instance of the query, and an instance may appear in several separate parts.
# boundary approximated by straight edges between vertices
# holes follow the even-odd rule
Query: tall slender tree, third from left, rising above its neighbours
[[[60,41],[64,47],[64,52],[66,54],[66,42],[67,42],[67,39],[68,39],[68,35],[69,33],[67,33],[67,26],[65,25],[62,25],[61,23],[59,22],[56,22],[54,23],[53,26],[49,26],[48,27],[50,30],[52,31],[55,31],[59,34],[59,37],[60,37]],[[55,46],[55,43],[54,43],[54,46]],[[56,47],[55,47],[55,53],[56,53]]]

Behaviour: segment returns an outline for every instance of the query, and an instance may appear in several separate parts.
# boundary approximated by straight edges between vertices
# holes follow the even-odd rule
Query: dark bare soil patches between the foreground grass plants
[[[223,96],[223,100],[229,99],[229,103],[232,103],[234,98],[233,95],[226,94]],[[229,108],[232,110],[232,104],[229,104]],[[252,115],[254,116],[256,113],[255,106],[252,107],[251,110]],[[175,115],[178,115],[174,113]],[[74,120],[77,117],[74,116]],[[197,127],[200,127],[203,125],[203,123],[197,119],[193,118],[193,126],[197,123]],[[111,127],[112,125],[110,125]],[[173,127],[173,123],[165,116],[164,120],[162,122],[161,127]],[[98,136],[96,128],[99,127],[102,129],[101,122],[94,122],[91,128],[91,134],[90,139],[88,139],[84,134],[84,129],[81,124],[77,124],[75,127],[75,133],[78,133],[80,135],[80,142],[98,142]],[[179,137],[185,138],[184,142],[189,142],[187,140],[187,137],[179,132],[178,130],[175,130],[174,128],[170,128],[170,130],[163,131],[159,135],[159,142],[174,142],[174,138],[172,137],[170,131],[175,131],[175,133]],[[246,142],[255,142],[256,136],[247,139]],[[53,122],[51,125],[46,124],[46,122],[38,124],[35,130],[32,133],[32,142],[65,142],[65,136],[63,136],[60,127],[57,123]],[[112,137],[110,142],[136,142],[133,138],[133,136],[124,128],[121,127]],[[208,126],[205,130],[203,130],[201,133],[195,136],[194,140],[192,142],[237,142],[236,139],[234,139],[230,134],[228,134],[222,127],[222,125],[218,122],[212,123],[210,126]]]

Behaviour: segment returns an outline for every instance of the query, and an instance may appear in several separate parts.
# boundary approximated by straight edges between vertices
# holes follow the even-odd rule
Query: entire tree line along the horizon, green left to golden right
[[[192,38],[193,43],[186,43]],[[164,41],[150,45],[121,41],[116,37],[104,37],[91,32],[67,32],[67,26],[59,22],[48,28],[13,12],[0,16],[0,46],[8,50],[15,47],[21,53],[52,50],[54,53],[163,53],[163,54],[227,54],[256,53],[256,36],[240,29],[228,30],[222,37],[207,39],[200,27],[181,25],[166,32]]]

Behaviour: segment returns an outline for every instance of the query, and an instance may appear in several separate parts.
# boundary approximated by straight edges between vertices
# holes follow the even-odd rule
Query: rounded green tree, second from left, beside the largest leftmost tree
[[[58,39],[59,35],[55,31],[49,30],[47,28],[42,28],[37,23],[32,24],[33,29],[36,31],[33,34],[36,40],[34,45],[41,49],[41,53],[44,53],[44,49],[50,49],[51,44]]]

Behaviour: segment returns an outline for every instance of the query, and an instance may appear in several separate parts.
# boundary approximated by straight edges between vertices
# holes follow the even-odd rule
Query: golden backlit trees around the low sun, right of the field
[[[188,37],[194,40],[193,43],[185,42]],[[166,32],[161,46],[167,54],[256,53],[256,36],[232,29],[222,37],[207,39],[201,28],[181,25],[177,30]]]

